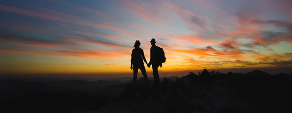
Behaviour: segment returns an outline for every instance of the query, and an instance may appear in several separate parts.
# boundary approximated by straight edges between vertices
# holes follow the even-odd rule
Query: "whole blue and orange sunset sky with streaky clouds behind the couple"
[[[292,0],[0,1],[2,74],[131,73],[151,38],[162,72],[290,68]]]

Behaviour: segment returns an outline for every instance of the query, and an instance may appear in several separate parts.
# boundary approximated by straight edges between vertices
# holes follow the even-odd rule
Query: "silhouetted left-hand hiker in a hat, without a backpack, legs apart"
[[[143,60],[145,61],[145,63],[148,65],[146,58],[144,56],[144,51],[143,49],[140,48],[140,41],[136,40],[135,45],[134,45],[134,49],[132,50],[132,54],[131,54],[131,70],[133,71],[133,84],[136,84],[136,80],[137,80],[137,75],[138,75],[138,69],[140,69],[140,71],[142,72],[142,75],[146,81],[146,85],[148,85],[148,77],[147,77],[147,73],[146,73],[146,69],[143,63]],[[143,60],[142,60],[143,58]]]

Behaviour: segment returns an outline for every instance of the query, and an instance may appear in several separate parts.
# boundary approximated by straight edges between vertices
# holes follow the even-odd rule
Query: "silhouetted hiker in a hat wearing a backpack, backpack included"
[[[154,77],[154,88],[160,86],[160,79],[158,75],[158,67],[162,67],[162,63],[165,62],[166,58],[164,56],[164,51],[162,48],[155,45],[156,41],[154,38],[151,39],[150,48],[150,61],[148,67],[152,65],[153,77]]]

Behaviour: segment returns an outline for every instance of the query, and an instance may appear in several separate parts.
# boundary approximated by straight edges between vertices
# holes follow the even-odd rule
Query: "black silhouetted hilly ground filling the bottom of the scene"
[[[7,98],[1,99],[0,112],[292,113],[292,76],[270,75],[259,70],[247,74],[204,72],[172,80],[164,78],[159,90],[123,83],[93,92],[70,87],[55,90],[56,86],[52,86],[1,81],[4,93],[0,96]]]

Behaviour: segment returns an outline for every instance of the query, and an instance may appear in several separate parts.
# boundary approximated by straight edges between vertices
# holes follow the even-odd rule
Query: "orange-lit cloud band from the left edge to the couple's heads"
[[[40,39],[33,38],[13,33],[1,33],[0,40],[2,43],[18,44],[25,46],[34,46],[42,48],[53,48],[52,51],[40,51],[40,50],[24,50],[21,48],[2,48],[4,51],[8,52],[18,52],[18,53],[31,53],[38,55],[49,55],[58,57],[117,57],[117,56],[127,56],[130,53],[124,53],[120,51],[100,51],[92,52],[92,50],[87,49],[84,44],[79,44],[80,42],[85,44],[93,44],[106,46],[114,49],[132,49],[127,45],[121,45],[118,43],[111,42],[110,40],[92,39],[86,36],[75,36],[74,38],[63,38],[58,37],[57,39]]]

